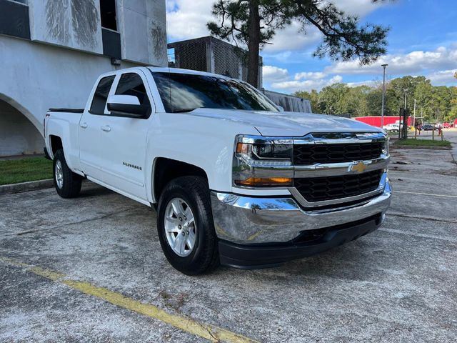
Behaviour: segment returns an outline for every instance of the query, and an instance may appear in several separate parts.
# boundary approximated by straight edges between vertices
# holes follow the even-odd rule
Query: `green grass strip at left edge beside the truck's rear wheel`
[[[0,161],[0,185],[44,179],[52,179],[52,161],[44,157]]]

